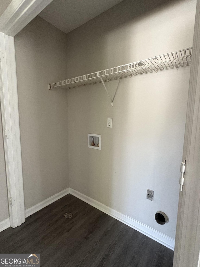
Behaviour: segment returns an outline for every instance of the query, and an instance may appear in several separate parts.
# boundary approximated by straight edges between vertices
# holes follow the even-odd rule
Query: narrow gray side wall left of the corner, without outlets
[[[15,36],[25,208],[69,186],[67,91],[48,90],[65,79],[67,36],[40,17]]]

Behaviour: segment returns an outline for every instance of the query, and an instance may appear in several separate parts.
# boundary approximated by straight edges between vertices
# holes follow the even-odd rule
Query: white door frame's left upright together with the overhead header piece
[[[12,0],[0,16],[0,104],[10,226],[25,222],[14,36],[52,0]]]

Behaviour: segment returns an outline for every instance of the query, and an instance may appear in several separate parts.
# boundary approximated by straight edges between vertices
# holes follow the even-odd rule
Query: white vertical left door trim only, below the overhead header
[[[0,100],[11,227],[25,222],[14,38],[0,33]]]

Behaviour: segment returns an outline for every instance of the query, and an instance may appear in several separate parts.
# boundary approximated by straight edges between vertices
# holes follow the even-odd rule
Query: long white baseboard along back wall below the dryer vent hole
[[[162,234],[156,230],[154,230],[153,228],[140,223],[136,220],[134,220],[133,218],[130,218],[112,208],[109,208],[108,206],[94,200],[93,198],[90,198],[86,195],[83,195],[82,193],[79,193],[78,191],[69,188],[69,193],[72,194],[73,196],[83,200],[84,202],[90,204],[91,206],[93,206],[94,208],[97,208],[101,211],[103,211],[104,213],[110,215],[111,217],[119,220],[122,223],[125,223],[126,225],[132,227],[133,229],[137,230],[138,232],[145,234],[146,236],[152,238],[153,240],[159,242],[160,244],[163,244],[164,246],[168,247],[169,249],[174,250],[174,244],[175,244],[175,240],[168,237],[165,234]]]

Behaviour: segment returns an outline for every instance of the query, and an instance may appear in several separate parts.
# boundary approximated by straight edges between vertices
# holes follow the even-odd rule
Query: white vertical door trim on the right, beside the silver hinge
[[[200,265],[200,1],[197,0],[183,160],[186,169],[179,197],[174,267]]]

